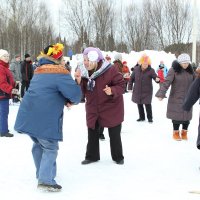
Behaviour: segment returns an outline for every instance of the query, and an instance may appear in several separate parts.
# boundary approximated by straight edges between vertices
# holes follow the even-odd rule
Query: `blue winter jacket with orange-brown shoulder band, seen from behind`
[[[80,86],[63,66],[41,65],[20,104],[14,128],[36,138],[62,141],[64,105],[80,99]]]

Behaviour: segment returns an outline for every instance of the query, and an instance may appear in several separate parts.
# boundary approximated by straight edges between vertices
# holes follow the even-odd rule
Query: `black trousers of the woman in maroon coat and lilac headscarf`
[[[121,142],[121,124],[108,128],[110,137],[111,156],[114,161],[124,159]],[[96,122],[95,129],[88,128],[88,144],[85,159],[97,161],[100,160],[99,151],[99,124]]]

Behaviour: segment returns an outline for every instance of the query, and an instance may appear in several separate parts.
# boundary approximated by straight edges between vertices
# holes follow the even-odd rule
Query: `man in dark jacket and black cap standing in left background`
[[[32,61],[29,54],[25,54],[25,60],[21,64],[22,86],[21,97],[23,98],[24,92],[28,90],[30,81],[33,77]]]

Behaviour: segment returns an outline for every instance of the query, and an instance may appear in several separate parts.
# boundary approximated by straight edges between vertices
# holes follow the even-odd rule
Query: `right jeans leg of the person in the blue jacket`
[[[58,141],[37,138],[42,148],[42,158],[38,173],[38,183],[56,185],[56,158],[58,155]],[[39,160],[38,160],[39,162]]]

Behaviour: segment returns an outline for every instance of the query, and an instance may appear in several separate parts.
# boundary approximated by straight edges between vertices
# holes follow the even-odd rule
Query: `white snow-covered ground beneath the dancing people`
[[[153,55],[153,54],[152,54]],[[157,56],[162,59],[162,56]],[[167,60],[170,62],[170,60]],[[128,62],[131,62],[129,59]],[[158,60],[155,61],[158,63]],[[156,66],[156,65],[155,65]],[[154,93],[158,89],[154,84]],[[124,165],[110,156],[109,137],[100,141],[101,160],[81,165],[85,157],[87,128],[85,105],[64,110],[64,141],[57,159],[59,193],[38,191],[32,159],[32,141],[13,130],[18,105],[10,106],[9,129],[13,138],[0,138],[0,199],[29,200],[195,200],[200,195],[200,152],[196,148],[199,105],[194,106],[188,141],[172,139],[172,123],[166,118],[167,99],[153,98],[153,124],[136,122],[137,106],[131,93],[124,94],[122,127]],[[37,124],[36,124],[37,126]]]

